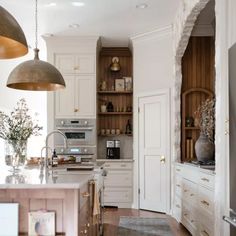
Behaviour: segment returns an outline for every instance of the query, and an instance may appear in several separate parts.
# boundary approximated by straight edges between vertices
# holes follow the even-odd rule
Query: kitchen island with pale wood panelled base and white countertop
[[[58,235],[89,235],[92,219],[92,185],[102,189],[102,170],[49,171],[45,178],[38,168],[12,174],[1,167],[0,203],[19,203],[19,232],[27,235],[28,212],[56,213]],[[91,184],[92,183],[92,184]]]

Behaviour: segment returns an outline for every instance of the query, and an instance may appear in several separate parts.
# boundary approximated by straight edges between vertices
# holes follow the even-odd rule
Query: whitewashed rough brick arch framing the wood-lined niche
[[[210,0],[183,0],[174,23],[174,161],[181,159],[181,85],[182,85],[182,57],[187,48],[195,21]],[[191,4],[191,5],[190,5]]]

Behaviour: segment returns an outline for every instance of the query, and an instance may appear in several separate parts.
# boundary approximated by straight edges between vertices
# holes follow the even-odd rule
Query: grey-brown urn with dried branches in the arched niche
[[[195,112],[200,136],[195,143],[197,159],[202,162],[214,159],[215,145],[215,98],[205,100]]]

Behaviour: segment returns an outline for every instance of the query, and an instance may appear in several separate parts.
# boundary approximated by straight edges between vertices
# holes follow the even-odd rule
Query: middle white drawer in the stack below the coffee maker
[[[105,187],[131,187],[133,183],[132,171],[109,170],[104,178]]]

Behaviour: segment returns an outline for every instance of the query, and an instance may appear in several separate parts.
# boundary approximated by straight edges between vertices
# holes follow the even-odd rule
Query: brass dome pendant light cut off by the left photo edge
[[[16,19],[0,6],[0,59],[11,59],[28,53],[25,35]]]

